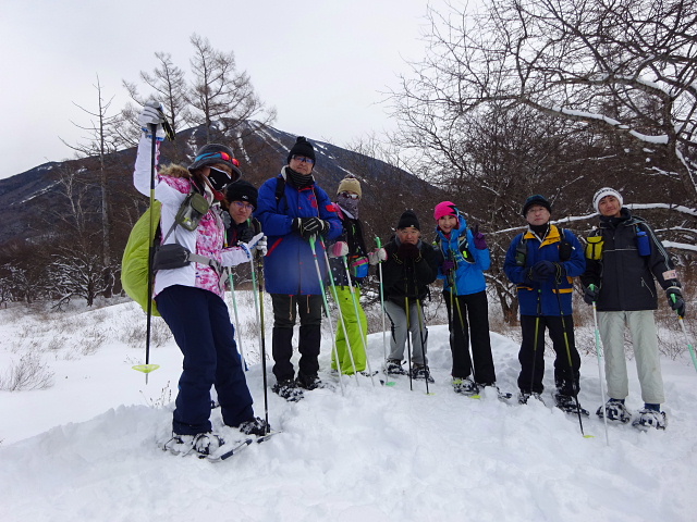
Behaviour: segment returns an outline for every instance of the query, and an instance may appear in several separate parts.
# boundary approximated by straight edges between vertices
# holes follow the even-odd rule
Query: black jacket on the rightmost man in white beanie
[[[650,253],[640,256],[637,232],[647,234]],[[663,289],[680,286],[673,262],[651,227],[625,208],[620,217],[600,217],[594,234],[602,235],[602,259],[586,259],[586,272],[580,276],[585,287],[591,283],[600,288],[598,311],[656,310],[658,296],[653,278]]]

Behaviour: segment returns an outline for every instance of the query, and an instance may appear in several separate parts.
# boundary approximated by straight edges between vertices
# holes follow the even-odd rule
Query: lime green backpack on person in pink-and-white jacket
[[[152,207],[149,207],[143,213],[129,235],[129,243],[126,243],[126,248],[121,259],[121,286],[131,299],[143,307],[143,311],[146,313],[148,298],[151,299],[151,296],[148,296],[148,268],[150,266],[148,259],[150,244],[148,241],[152,237],[152,246],[159,244],[161,210],[162,203],[156,200]],[[150,215],[152,216],[151,221]],[[150,223],[152,224],[151,228],[149,226]],[[155,276],[152,281],[155,281]],[[155,299],[151,299],[151,313],[159,316],[160,312],[157,310]]]

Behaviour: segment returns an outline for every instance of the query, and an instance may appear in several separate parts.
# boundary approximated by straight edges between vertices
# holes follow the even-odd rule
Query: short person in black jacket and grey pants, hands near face
[[[426,358],[428,331],[423,323],[424,310],[420,306],[428,295],[428,285],[435,282],[438,275],[440,257],[436,249],[421,241],[420,237],[418,219],[413,211],[407,210],[400,217],[394,238],[384,246],[384,311],[392,323],[386,371],[393,375],[406,373],[402,368],[402,359],[406,336],[411,333],[412,378],[427,378],[432,383]]]

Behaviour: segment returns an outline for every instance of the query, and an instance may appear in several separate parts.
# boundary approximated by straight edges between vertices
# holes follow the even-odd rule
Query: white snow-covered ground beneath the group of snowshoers
[[[269,393],[270,422],[283,433],[210,463],[156,447],[169,431],[181,356],[158,334],[164,340],[151,362],[161,368],[145,385],[131,369],[142,362],[145,323],[133,303],[75,309],[59,321],[23,310],[0,311],[0,378],[7,383],[10,369],[33,353],[53,385],[0,391],[3,522],[669,522],[697,513],[697,373],[687,357],[663,361],[668,430],[611,425],[608,445],[595,415],[584,420],[594,436],[585,438],[577,418],[540,402],[453,394],[447,326],[433,325],[431,395],[423,382],[409,390],[406,377],[392,387],[350,380],[343,395],[318,389],[297,403]],[[253,315],[242,312],[244,326]],[[257,349],[253,338],[243,337],[248,351]],[[517,345],[497,334],[492,340],[499,384],[515,391]],[[327,337],[323,370],[330,347]],[[375,369],[382,349],[382,334],[371,335]],[[549,377],[549,358],[547,365]],[[247,381],[264,417],[260,364]],[[584,358],[582,387],[582,405],[595,411],[595,357]],[[628,406],[637,409],[634,370]]]

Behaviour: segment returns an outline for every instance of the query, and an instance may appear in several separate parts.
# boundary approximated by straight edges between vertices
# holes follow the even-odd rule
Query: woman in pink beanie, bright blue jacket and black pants
[[[443,279],[443,300],[448,308],[453,388],[457,394],[475,395],[480,387],[494,386],[497,381],[484,276],[484,271],[491,265],[491,257],[484,234],[478,228],[474,232],[467,228],[465,217],[452,201],[438,203],[433,219],[438,223],[436,246],[443,257],[438,278]]]

